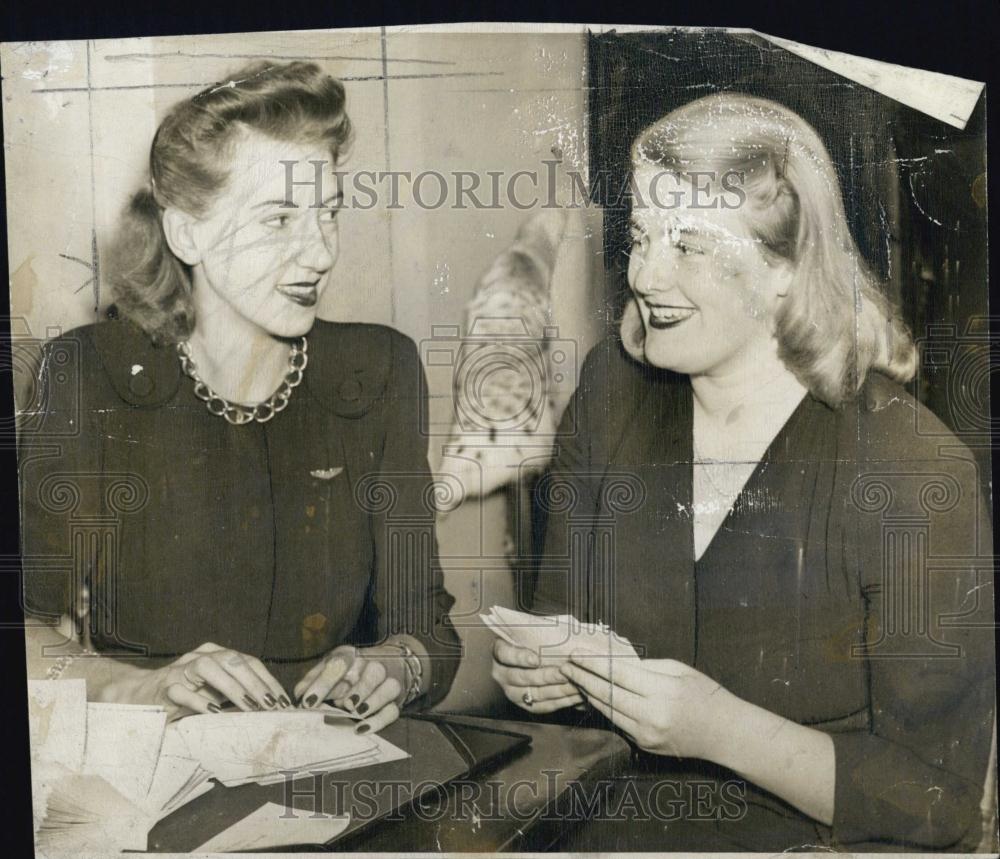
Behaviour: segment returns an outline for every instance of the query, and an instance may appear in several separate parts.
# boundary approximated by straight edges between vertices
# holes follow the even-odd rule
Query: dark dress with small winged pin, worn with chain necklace
[[[443,697],[459,646],[409,339],[317,322],[287,408],[242,426],[125,321],[44,355],[20,438],[27,612],[69,612],[85,585],[102,652],[154,665],[211,641],[289,690],[339,644],[410,633],[432,656],[423,703]]]

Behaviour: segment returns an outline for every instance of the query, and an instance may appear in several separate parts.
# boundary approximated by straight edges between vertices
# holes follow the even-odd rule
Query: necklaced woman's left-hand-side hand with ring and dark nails
[[[227,700],[244,711],[291,706],[264,664],[254,656],[206,642],[163,668],[135,669],[107,684],[105,701],[157,704],[168,719],[217,713]]]

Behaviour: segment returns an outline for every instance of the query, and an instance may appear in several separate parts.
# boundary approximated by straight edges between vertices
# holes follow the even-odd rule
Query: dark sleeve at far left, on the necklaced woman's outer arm
[[[91,570],[77,569],[70,520],[90,509],[83,476],[95,471],[93,428],[81,400],[96,357],[79,331],[46,343],[33,357],[19,402],[18,476],[25,614],[75,615]],[[89,393],[89,385],[88,393]]]

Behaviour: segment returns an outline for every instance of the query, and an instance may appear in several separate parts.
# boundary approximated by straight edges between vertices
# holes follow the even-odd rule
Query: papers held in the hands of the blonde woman
[[[543,665],[561,665],[576,651],[639,658],[627,638],[603,624],[581,623],[572,615],[543,617],[493,606],[487,614],[479,616],[508,644],[537,653]]]

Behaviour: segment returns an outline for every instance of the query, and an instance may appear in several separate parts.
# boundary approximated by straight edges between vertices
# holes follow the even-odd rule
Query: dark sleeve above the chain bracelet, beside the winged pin
[[[362,492],[375,512],[376,578],[372,598],[379,637],[409,634],[427,648],[430,684],[421,707],[441,700],[455,679],[461,644],[449,611],[435,534],[434,483],[427,462],[427,381],[414,343],[395,333],[385,393],[385,442],[377,480]]]

